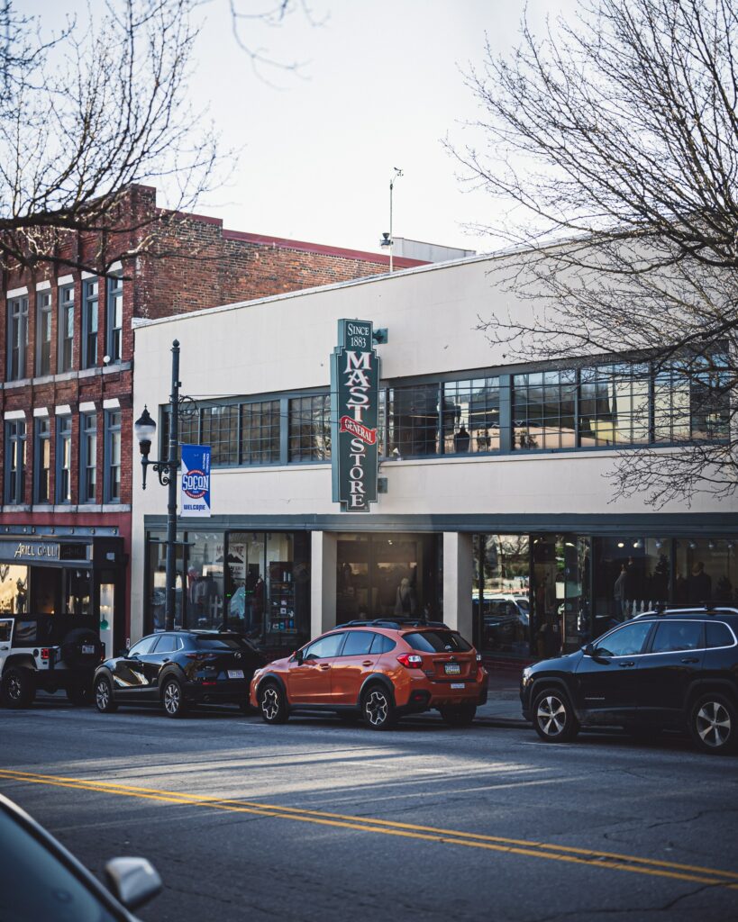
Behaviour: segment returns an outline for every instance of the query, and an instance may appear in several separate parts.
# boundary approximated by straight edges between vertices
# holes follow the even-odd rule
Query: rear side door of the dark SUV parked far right
[[[686,691],[702,671],[705,632],[699,619],[659,621],[644,656],[638,656],[638,720],[680,724]]]

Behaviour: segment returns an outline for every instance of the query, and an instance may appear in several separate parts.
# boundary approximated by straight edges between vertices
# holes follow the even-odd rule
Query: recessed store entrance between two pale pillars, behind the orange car
[[[337,624],[441,617],[437,536],[343,534],[337,544]]]

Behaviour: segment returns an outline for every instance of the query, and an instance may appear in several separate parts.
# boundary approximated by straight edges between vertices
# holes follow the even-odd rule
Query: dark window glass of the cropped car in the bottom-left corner
[[[65,864],[0,809],[0,919],[120,922]]]

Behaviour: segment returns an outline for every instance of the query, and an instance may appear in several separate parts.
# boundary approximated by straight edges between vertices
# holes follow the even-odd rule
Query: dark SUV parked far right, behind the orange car
[[[738,610],[666,609],[638,615],[576,653],[523,670],[523,715],[541,739],[580,727],[637,736],[687,729],[711,753],[738,748]]]

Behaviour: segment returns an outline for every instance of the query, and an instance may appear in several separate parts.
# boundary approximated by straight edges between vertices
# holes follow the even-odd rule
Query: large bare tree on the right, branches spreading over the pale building
[[[453,149],[468,183],[510,205],[504,226],[486,230],[518,245],[509,281],[535,299],[527,320],[481,327],[513,359],[651,362],[657,382],[670,379],[673,425],[660,439],[646,420],[649,437],[613,469],[615,494],[645,491],[656,505],[729,495],[738,2],[580,0],[574,20],[542,37],[524,20],[521,34],[512,55],[488,45],[467,76],[489,143]],[[651,414],[666,412],[658,399]]]

